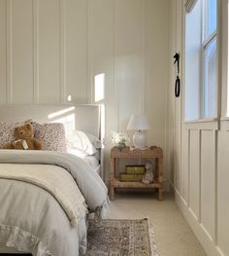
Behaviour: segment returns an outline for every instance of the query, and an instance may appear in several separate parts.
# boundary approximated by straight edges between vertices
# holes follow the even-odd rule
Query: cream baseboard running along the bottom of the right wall
[[[175,199],[182,212],[184,218],[189,224],[190,228],[194,232],[195,236],[198,238],[206,253],[209,256],[226,256],[223,252],[214,244],[213,240],[209,238],[205,230],[200,223],[197,222],[196,218],[193,216],[191,211],[188,209],[188,206],[185,201],[180,197],[180,194],[175,190]]]

